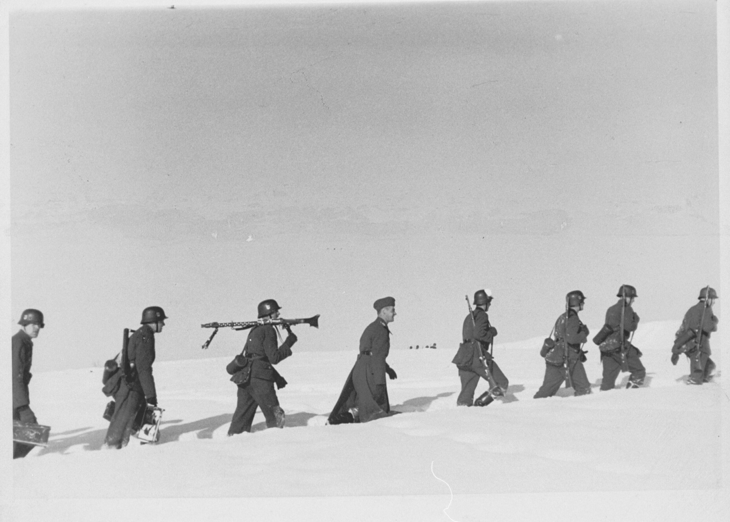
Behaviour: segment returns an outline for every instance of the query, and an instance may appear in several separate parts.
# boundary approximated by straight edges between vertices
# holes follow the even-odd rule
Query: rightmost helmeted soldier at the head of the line
[[[687,384],[707,383],[715,371],[715,363],[710,358],[710,333],[718,329],[718,318],[712,313],[712,304],[718,299],[718,293],[707,286],[702,288],[697,299],[699,302],[685,313],[672,347],[672,364],[677,364],[680,353],[689,359]]]

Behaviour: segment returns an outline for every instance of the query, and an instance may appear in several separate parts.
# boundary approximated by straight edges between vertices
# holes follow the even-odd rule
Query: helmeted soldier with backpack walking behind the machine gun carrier
[[[142,426],[147,404],[157,406],[155,377],[152,364],[155,362],[155,333],[165,326],[164,310],[161,307],[147,307],[142,311],[142,326],[129,338],[126,354],[122,360],[123,377],[119,391],[115,394],[115,410],[110,420],[104,448],[120,449],[129,442],[129,437]]]

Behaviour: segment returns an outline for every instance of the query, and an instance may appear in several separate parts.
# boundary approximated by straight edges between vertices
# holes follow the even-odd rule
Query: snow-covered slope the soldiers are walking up
[[[456,342],[391,350],[398,379],[388,391],[403,413],[340,426],[324,424],[356,353],[295,345],[277,366],[289,382],[278,391],[287,427],[265,430],[258,412],[253,433],[236,437],[226,437],[234,354],[158,362],[161,441],[119,451],[99,451],[101,369],[38,373],[31,407],[53,429],[47,448],[12,462],[10,519],[724,521],[729,398],[721,377],[686,386],[685,358],[669,362],[679,322],[639,326],[634,345],[648,370],[639,390],[623,389],[621,374],[621,389],[599,393],[598,350],[586,345],[594,393],[583,397],[561,388],[532,399],[542,339],[496,344],[510,389],[485,408],[456,407]],[[162,334],[157,349],[174,347]]]

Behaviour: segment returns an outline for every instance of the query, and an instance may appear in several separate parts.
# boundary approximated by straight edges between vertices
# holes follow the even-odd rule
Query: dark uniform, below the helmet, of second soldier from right
[[[621,330],[621,309],[623,308],[623,334]],[[606,310],[607,326],[612,329],[604,342],[599,345],[601,350],[601,362],[603,364],[603,379],[601,390],[611,390],[615,386],[618,374],[629,371],[629,386],[638,387],[644,383],[646,369],[642,364],[641,352],[637,347],[629,343],[631,332],[636,331],[639,326],[639,315],[634,312],[630,304],[623,304],[623,298]],[[626,347],[626,365],[624,366],[623,354],[621,353],[621,341]]]

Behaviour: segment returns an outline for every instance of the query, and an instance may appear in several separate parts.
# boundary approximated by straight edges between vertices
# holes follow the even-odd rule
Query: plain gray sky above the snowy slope
[[[269,297],[322,315],[295,350],[356,350],[385,295],[393,349],[455,350],[485,287],[498,342],[547,336],[576,288],[592,329],[622,283],[680,320],[720,285],[716,23],[715,1],[12,12],[34,367],[103,363],[150,304],[161,359],[239,351],[199,325]]]

